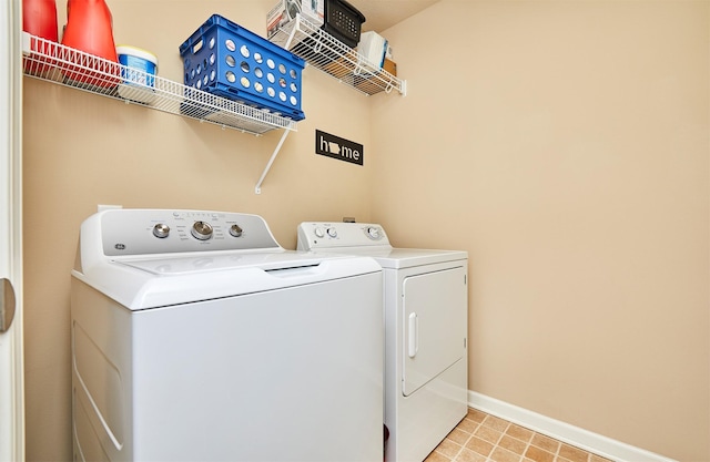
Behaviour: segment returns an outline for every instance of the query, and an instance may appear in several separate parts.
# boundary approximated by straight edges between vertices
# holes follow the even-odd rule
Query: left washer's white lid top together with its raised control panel
[[[257,215],[111,209],[81,225],[72,275],[141,310],[381,271],[364,256],[285,250]]]

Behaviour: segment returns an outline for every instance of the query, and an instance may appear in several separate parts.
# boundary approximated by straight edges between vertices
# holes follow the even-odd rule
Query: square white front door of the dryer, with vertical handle
[[[402,392],[407,397],[466,351],[466,269],[407,277],[403,297]]]

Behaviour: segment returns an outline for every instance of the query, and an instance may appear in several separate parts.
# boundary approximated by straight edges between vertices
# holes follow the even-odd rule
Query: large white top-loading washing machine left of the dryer
[[[382,461],[382,269],[256,215],[112,209],[72,271],[74,459]]]

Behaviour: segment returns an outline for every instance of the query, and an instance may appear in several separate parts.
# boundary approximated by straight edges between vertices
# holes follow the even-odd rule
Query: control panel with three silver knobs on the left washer
[[[119,208],[98,220],[104,255],[273,249],[281,246],[258,215],[205,211]]]

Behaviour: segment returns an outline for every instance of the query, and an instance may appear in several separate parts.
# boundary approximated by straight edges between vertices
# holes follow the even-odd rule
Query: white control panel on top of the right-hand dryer
[[[311,222],[298,225],[298,250],[371,246],[389,246],[387,234],[381,225],[337,222]]]

